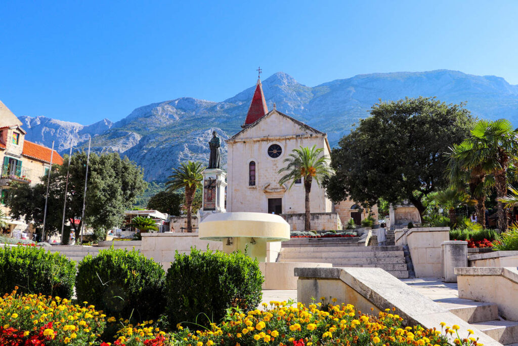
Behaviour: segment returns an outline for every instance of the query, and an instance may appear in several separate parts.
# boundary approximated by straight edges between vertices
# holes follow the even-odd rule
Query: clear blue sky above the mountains
[[[441,68],[518,84],[516,1],[3,1],[0,100],[93,123],[152,102],[222,101],[283,71],[302,84]]]

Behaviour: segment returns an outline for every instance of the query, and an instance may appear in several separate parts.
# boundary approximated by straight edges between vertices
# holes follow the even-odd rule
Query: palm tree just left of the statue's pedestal
[[[180,164],[180,167],[172,170],[169,181],[166,183],[167,191],[174,192],[185,189],[185,207],[187,209],[187,231],[192,232],[192,204],[196,189],[202,186],[203,171],[201,162],[188,161]]]

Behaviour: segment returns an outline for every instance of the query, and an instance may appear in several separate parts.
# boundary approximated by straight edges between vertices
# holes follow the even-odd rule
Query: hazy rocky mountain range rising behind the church
[[[278,72],[264,81],[268,108],[326,132],[331,146],[348,134],[358,119],[368,116],[379,100],[406,96],[437,96],[447,103],[466,102],[474,116],[507,118],[518,125],[518,86],[495,76],[476,76],[458,71],[396,72],[357,75],[308,87]],[[68,153],[71,145],[97,152],[116,151],[141,165],[147,181],[165,181],[171,169],[186,160],[208,162],[207,142],[213,130],[227,139],[241,130],[255,83],[222,102],[179,98],[138,107],[112,122],[104,119],[88,126],[44,116],[20,116],[26,138],[55,146]],[[222,146],[226,162],[226,146]]]

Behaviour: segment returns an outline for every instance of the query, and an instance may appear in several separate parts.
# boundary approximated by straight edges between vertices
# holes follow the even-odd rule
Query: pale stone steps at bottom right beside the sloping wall
[[[403,281],[409,283],[406,280]],[[409,285],[418,288],[420,293],[425,294],[424,290],[417,287],[418,285],[423,286],[423,284],[409,283]],[[463,321],[469,323],[469,325],[474,329],[482,331],[482,333],[495,339],[501,344],[518,346],[518,322],[502,319],[502,317],[498,315],[498,306],[495,303],[485,303],[469,299],[462,299],[458,298],[458,296],[440,298],[441,296],[448,294],[446,292],[447,288],[444,288],[444,286],[451,286],[449,288],[452,289],[452,292],[456,292],[456,284],[446,284],[438,280],[435,287],[433,284],[426,284],[426,286],[432,290],[435,290],[435,293],[433,293],[434,296],[429,296],[428,294],[427,296],[429,296],[440,306],[448,309],[451,313],[458,316]],[[462,338],[464,338],[466,331],[463,330],[462,333],[459,334]]]

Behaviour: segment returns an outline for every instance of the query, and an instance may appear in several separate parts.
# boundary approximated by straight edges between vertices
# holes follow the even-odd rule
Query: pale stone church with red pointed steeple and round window
[[[242,130],[225,141],[227,144],[227,204],[228,212],[260,212],[282,215],[292,230],[304,230],[304,185],[296,182],[279,185],[285,166],[283,160],[299,147],[322,148],[330,156],[327,135],[274,107],[268,111],[261,79],[255,92]],[[313,181],[310,192],[311,228],[314,230],[342,229],[354,203],[345,201],[335,208],[325,189]],[[343,211],[340,215],[337,210]],[[363,218],[363,217],[362,217]]]

